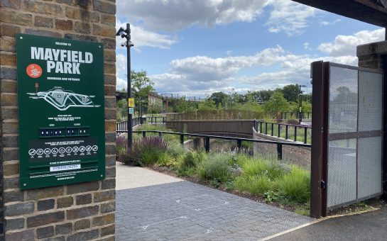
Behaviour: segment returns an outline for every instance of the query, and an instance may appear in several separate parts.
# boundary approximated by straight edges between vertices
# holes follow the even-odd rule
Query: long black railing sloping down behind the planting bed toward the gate
[[[126,133],[126,131],[116,131],[116,133]],[[241,150],[242,141],[246,142],[258,142],[258,143],[266,143],[273,144],[277,146],[277,156],[278,159],[282,159],[282,147],[283,145],[296,146],[296,147],[311,147],[310,144],[302,144],[295,142],[278,142],[273,140],[256,140],[256,139],[248,139],[248,138],[231,138],[228,136],[218,136],[218,135],[202,135],[202,134],[192,134],[192,133],[175,133],[170,131],[160,131],[160,130],[136,130],[133,133],[141,133],[143,137],[146,137],[146,133],[158,133],[158,137],[162,138],[163,134],[170,135],[180,135],[180,144],[184,144],[184,138],[186,136],[194,137],[194,138],[204,138],[205,139],[205,150],[209,152],[210,150],[210,139],[222,139],[222,140],[234,140],[236,141],[236,145],[238,150]]]

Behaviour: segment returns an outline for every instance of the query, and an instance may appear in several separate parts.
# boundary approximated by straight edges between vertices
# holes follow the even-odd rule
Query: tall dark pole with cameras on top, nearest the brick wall
[[[127,101],[129,103],[129,98],[131,98],[131,47],[133,47],[133,43],[131,43],[131,25],[129,23],[126,23],[126,29],[119,28],[119,30],[116,33],[116,36],[121,36],[121,38],[126,38],[126,42],[122,44],[121,46],[126,46],[126,77],[128,78],[128,85],[127,85]],[[128,105],[128,148],[131,148],[133,143],[133,127],[132,127],[132,118],[131,113],[129,113],[129,105]]]

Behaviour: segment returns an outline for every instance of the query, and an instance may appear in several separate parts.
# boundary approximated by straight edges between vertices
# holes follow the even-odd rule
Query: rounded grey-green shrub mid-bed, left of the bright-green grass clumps
[[[197,174],[199,174],[201,179],[217,181],[219,184],[222,184],[231,179],[230,161],[230,155],[207,155],[207,158],[200,163]]]

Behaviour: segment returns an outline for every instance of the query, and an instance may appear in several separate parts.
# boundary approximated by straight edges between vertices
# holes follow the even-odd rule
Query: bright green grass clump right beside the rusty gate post
[[[291,171],[278,180],[278,192],[283,201],[306,203],[310,198],[310,172],[293,165]]]

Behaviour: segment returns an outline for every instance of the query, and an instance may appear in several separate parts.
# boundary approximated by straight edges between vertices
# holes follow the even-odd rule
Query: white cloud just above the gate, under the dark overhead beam
[[[364,45],[384,40],[385,30],[380,28],[378,30],[363,30],[354,35],[337,35],[334,42],[322,43],[318,50],[325,52],[331,56],[356,56],[356,46]]]

